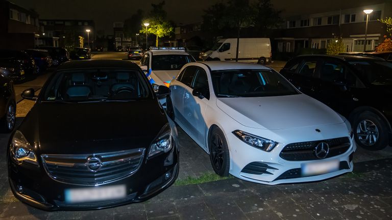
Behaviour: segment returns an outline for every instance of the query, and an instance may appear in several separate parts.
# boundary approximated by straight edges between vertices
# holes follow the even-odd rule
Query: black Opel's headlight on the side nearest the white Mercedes
[[[165,124],[159,132],[157,139],[151,144],[147,158],[162,152],[168,152],[173,147],[173,144],[171,128],[169,124]]]

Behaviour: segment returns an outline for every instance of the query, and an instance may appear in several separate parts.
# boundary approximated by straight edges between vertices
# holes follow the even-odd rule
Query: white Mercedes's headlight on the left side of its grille
[[[278,143],[274,141],[241,130],[235,130],[233,131],[233,134],[237,136],[241,141],[249,144],[250,146],[267,152],[272,151],[272,149],[274,149],[276,145],[278,145]]]

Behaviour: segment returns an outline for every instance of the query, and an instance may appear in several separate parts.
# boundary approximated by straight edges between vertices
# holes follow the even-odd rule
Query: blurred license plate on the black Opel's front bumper
[[[127,196],[125,185],[65,189],[65,202],[82,203],[122,199]]]

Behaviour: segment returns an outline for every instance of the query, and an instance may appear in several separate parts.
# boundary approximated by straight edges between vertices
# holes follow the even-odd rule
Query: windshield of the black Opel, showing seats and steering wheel
[[[137,70],[75,69],[57,74],[42,101],[133,100],[150,96],[149,87]]]

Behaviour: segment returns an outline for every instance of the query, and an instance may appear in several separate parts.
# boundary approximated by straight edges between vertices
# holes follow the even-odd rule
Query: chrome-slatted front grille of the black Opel
[[[54,180],[75,185],[101,185],[135,173],[143,155],[144,148],[138,148],[90,155],[45,154],[41,158],[46,173]]]

